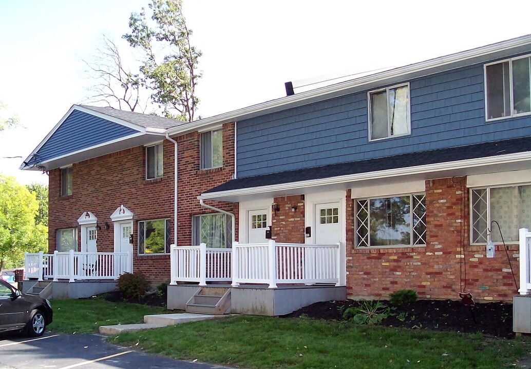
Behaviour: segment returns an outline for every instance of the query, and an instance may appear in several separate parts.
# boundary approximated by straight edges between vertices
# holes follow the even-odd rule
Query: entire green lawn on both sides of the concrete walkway
[[[164,312],[102,300],[53,301],[52,331],[95,332]],[[124,346],[173,358],[244,368],[501,368],[524,356],[525,340],[453,332],[355,326],[307,318],[233,316],[121,333]]]

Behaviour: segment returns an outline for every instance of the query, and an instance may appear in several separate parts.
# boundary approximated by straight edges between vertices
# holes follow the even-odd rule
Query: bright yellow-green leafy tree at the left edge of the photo
[[[35,193],[0,174],[0,271],[22,265],[24,251],[48,249],[48,228],[35,223],[38,210]]]

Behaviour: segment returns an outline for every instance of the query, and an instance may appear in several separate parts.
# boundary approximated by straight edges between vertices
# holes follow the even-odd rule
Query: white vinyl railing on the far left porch
[[[25,278],[118,279],[131,273],[130,253],[116,252],[57,252],[25,253]]]

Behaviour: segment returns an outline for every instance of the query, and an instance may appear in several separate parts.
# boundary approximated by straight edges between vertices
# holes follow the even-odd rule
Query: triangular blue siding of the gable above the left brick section
[[[37,154],[39,160],[44,162],[135,133],[138,131],[132,128],[74,110]]]

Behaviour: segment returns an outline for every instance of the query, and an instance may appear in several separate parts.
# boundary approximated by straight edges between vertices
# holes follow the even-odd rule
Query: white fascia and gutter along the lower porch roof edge
[[[528,160],[531,160],[531,152],[482,157],[479,159],[459,160],[455,162],[410,166],[407,168],[388,169],[388,170],[369,172],[369,173],[339,175],[338,177],[320,178],[320,179],[313,179],[313,180],[299,181],[299,182],[279,183],[278,185],[268,185],[268,186],[242,188],[242,189],[229,190],[229,191],[211,192],[208,194],[202,194],[198,196],[198,199],[203,199],[203,200],[212,199],[213,200],[218,197],[256,195],[256,194],[264,194],[264,193],[273,192],[273,191],[284,191],[284,190],[304,189],[306,187],[338,185],[341,183],[348,183],[348,182],[359,182],[359,181],[375,180],[375,179],[381,179],[381,178],[400,177],[401,175],[422,174],[425,172],[436,173],[436,172],[443,172],[443,171],[448,171],[448,170],[474,168],[476,166],[508,164],[508,163],[515,163],[519,161],[528,161]]]

